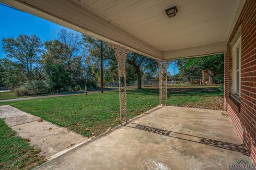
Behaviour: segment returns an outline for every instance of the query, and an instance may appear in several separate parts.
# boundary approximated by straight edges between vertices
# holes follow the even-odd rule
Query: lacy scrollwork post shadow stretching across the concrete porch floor
[[[129,126],[129,124],[132,124],[132,126]],[[235,143],[229,143],[229,142],[223,142],[223,141],[218,141],[218,140],[209,139],[209,138],[197,137],[195,135],[190,135],[190,134],[185,134],[185,133],[168,131],[168,130],[164,130],[164,129],[153,128],[153,127],[150,127],[150,126],[145,126],[145,125],[136,124],[136,123],[128,123],[125,126],[130,127],[130,128],[143,130],[143,131],[147,131],[147,132],[152,132],[152,133],[165,135],[167,137],[177,138],[177,139],[186,140],[186,141],[190,141],[190,142],[201,143],[201,144],[204,144],[204,145],[209,145],[209,146],[218,147],[218,148],[222,148],[222,149],[227,149],[227,150],[231,150],[231,151],[241,152],[244,155],[249,156],[249,153],[245,149],[244,145],[237,145]],[[193,137],[195,139],[191,140],[191,139],[177,137],[175,135],[184,135],[187,138]]]

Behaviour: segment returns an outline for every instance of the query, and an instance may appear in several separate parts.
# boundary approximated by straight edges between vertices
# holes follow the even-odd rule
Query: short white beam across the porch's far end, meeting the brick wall
[[[227,51],[226,42],[215,43],[211,45],[171,50],[169,52],[162,53],[162,60],[174,60],[178,58],[188,58],[196,56],[204,56],[210,54],[221,54]]]

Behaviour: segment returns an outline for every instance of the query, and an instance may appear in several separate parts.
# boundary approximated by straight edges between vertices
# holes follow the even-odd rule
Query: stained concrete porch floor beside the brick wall
[[[228,169],[250,158],[226,114],[158,106],[36,169]]]

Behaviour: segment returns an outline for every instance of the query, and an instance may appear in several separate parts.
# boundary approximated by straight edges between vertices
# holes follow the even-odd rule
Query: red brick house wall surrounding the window
[[[241,108],[228,97],[232,86],[232,47],[229,45],[242,26]],[[256,0],[247,0],[227,44],[225,56],[225,107],[239,136],[256,164]]]

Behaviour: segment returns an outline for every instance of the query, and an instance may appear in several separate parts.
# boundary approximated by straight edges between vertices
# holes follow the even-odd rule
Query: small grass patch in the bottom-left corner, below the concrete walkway
[[[38,156],[40,151],[0,119],[0,169],[31,169],[44,162],[44,157]]]

